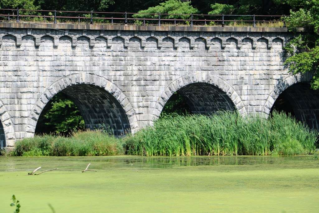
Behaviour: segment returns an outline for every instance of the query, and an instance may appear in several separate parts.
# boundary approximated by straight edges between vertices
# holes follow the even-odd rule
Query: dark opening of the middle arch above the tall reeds
[[[207,83],[193,83],[174,93],[162,113],[181,111],[210,115],[220,110],[235,110],[230,97],[218,87]]]

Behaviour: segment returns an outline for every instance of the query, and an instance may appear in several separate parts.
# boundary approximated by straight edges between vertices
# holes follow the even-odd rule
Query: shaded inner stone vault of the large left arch
[[[129,120],[122,105],[104,89],[94,85],[78,84],[67,87],[60,93],[66,95],[78,107],[86,128],[95,129],[105,125],[116,136],[130,132]],[[35,130],[36,134],[42,133],[43,124],[39,121],[41,121],[45,111],[43,109],[41,112]]]

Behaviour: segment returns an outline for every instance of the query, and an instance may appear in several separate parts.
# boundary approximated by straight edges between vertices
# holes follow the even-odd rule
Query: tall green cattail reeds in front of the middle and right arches
[[[167,115],[122,140],[130,155],[300,155],[315,151],[317,136],[284,113],[264,119],[220,112]]]

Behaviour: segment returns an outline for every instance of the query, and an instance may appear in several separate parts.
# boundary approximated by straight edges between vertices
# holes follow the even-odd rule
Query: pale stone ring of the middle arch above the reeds
[[[171,82],[165,90],[162,92],[162,94],[159,96],[155,107],[153,109],[152,115],[156,118],[159,117],[161,111],[163,110],[165,104],[167,103],[168,99],[179,89],[182,87],[188,86],[190,84],[195,83],[206,83],[208,85],[214,86],[218,88],[219,90],[226,93],[226,95],[230,98],[230,100],[234,103],[235,108],[241,113],[246,114],[246,108],[244,104],[241,101],[240,96],[237,94],[237,92],[234,90],[234,88],[229,85],[225,80],[215,76],[211,75],[207,72],[196,72],[194,74],[188,74],[184,75],[173,82]]]

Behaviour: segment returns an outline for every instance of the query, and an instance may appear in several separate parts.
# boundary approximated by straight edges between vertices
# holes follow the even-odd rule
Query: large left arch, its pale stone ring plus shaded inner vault
[[[38,98],[31,110],[25,137],[33,137],[42,110],[61,91],[78,106],[87,128],[106,123],[116,135],[137,130],[135,111],[115,84],[98,75],[77,73],[57,80]]]

